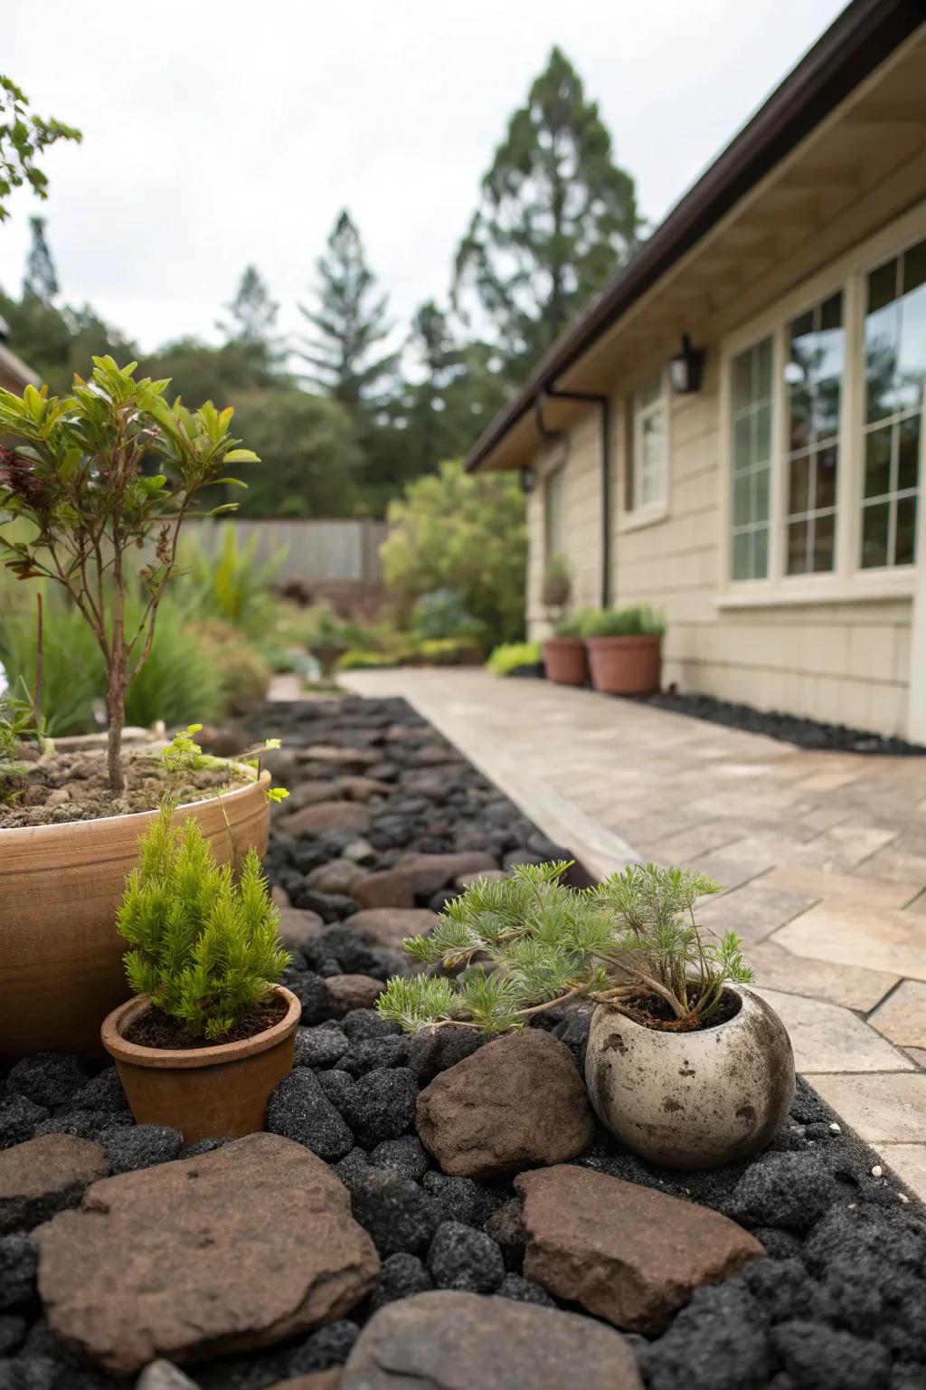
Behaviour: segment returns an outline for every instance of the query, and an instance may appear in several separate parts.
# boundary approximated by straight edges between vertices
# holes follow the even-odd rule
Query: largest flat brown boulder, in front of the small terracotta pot
[[[347,1188],[278,1134],[107,1177],[33,1234],[51,1330],[115,1376],[294,1337],[379,1275]]]

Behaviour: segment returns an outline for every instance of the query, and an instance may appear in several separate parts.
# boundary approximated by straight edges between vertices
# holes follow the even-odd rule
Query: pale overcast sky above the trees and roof
[[[3,70],[83,131],[0,227],[18,291],[42,213],[62,300],[151,349],[215,338],[254,261],[297,329],[350,207],[393,314],[444,297],[480,175],[558,43],[658,221],[840,0],[3,0]]]

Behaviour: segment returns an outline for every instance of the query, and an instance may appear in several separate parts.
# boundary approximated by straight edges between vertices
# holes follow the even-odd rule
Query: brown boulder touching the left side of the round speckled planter
[[[564,1163],[594,1137],[572,1054],[540,1029],[496,1038],[436,1076],[415,1125],[444,1173],[476,1179]]]

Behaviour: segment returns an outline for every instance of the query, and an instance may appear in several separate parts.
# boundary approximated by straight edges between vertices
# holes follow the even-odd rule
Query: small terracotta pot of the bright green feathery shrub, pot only
[[[293,1069],[296,1029],[303,1006],[282,984],[286,1015],[272,1029],[240,1042],[169,1049],[126,1042],[124,1031],[151,1006],[137,995],[106,1019],[103,1047],[115,1058],[132,1113],[139,1125],[169,1125],[186,1144],[200,1138],[240,1138],[264,1129],[267,1102]]]

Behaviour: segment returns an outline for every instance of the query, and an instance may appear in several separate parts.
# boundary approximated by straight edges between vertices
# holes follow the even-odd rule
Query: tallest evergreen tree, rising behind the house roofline
[[[508,124],[457,252],[512,378],[523,378],[637,242],[634,182],[582,79],[554,47]]]

